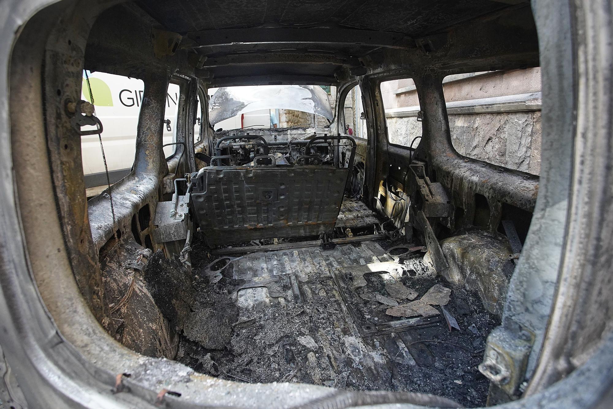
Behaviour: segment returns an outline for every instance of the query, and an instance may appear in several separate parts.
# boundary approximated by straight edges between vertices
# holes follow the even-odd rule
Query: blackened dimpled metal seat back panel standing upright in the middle
[[[211,246],[331,233],[347,168],[205,167],[192,177],[192,203]]]

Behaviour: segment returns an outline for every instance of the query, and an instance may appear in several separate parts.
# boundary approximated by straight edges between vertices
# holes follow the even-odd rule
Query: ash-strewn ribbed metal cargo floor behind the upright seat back
[[[497,322],[421,257],[398,260],[364,242],[222,258],[194,272],[177,359],[195,370],[485,405],[477,365]]]

